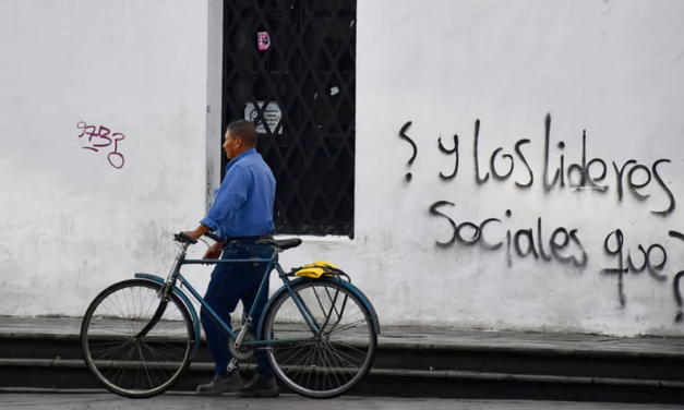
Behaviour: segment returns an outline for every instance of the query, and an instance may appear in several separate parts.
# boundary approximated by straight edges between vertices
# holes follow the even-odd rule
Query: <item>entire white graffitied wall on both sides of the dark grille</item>
[[[214,14],[207,22],[217,2],[209,4],[0,2],[0,56],[14,56],[0,70],[0,314],[82,314],[107,284],[166,273],[170,234],[196,224],[219,172],[211,145],[220,118],[216,110],[207,118],[205,107],[216,104],[207,88],[220,72],[220,47],[207,41],[218,24]],[[684,270],[684,242],[668,231],[684,231],[682,21],[679,0],[358,0],[356,239],[310,239],[285,264],[337,263],[385,325],[681,334],[673,282]],[[566,174],[565,188],[544,191],[548,113],[550,172],[561,155],[566,171],[581,162],[586,130],[587,161],[608,166],[599,182],[605,193],[572,190]],[[480,173],[490,173],[481,185],[478,119]],[[123,169],[81,148],[79,121],[125,134]],[[412,148],[399,137],[408,121],[418,147],[411,166]],[[452,148],[454,134],[458,173],[442,181],[455,156],[442,154],[437,138]],[[535,178],[529,189],[515,185],[529,178],[514,149],[523,138],[530,140],[520,147]],[[514,158],[506,181],[491,177],[497,147]],[[648,201],[635,198],[624,182],[632,166],[619,201],[612,162],[628,159],[648,169],[671,160],[657,170],[674,212],[651,213],[669,206],[655,178],[638,190]],[[496,169],[507,167],[499,157]],[[595,164],[590,173],[600,171]],[[634,174],[637,183],[644,178]],[[454,204],[437,210],[458,225],[501,219],[484,229],[490,243],[532,229],[538,249],[541,217],[550,253],[556,228],[577,229],[587,264],[520,257],[515,243],[511,264],[505,243],[439,248],[453,233],[445,217],[430,214],[439,201]],[[619,276],[601,274],[619,266],[603,251],[615,229],[636,265],[639,244],[668,253],[665,280],[624,275],[624,303]],[[574,242],[561,253],[581,256]],[[651,260],[660,263],[662,253]],[[200,290],[204,269],[191,275]]]

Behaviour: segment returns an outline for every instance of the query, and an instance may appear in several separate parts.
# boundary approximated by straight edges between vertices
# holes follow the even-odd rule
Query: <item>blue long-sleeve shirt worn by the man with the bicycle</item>
[[[226,166],[214,205],[201,224],[224,240],[273,233],[275,195],[271,168],[256,149],[248,149]]]

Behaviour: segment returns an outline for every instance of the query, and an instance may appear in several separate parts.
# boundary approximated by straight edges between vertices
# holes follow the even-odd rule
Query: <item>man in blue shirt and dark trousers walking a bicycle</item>
[[[213,231],[224,240],[206,251],[205,260],[268,260],[273,255],[272,246],[257,242],[272,238],[275,231],[273,206],[276,181],[271,168],[256,153],[256,143],[257,133],[251,122],[239,120],[228,125],[224,149],[230,162],[226,167],[224,182],[200,227],[184,232],[196,240]],[[268,300],[268,280],[263,280],[266,265],[263,262],[224,263],[214,268],[204,300],[227,325],[230,326],[230,315],[239,301],[242,301],[244,312],[254,306],[254,317],[261,317]],[[257,298],[262,280],[266,289]],[[216,371],[212,382],[197,387],[197,394],[237,391],[239,397],[278,396],[275,376],[264,351],[254,353],[256,374],[252,382],[244,385],[237,367],[228,372],[232,360],[228,335],[221,331],[204,308],[201,321]]]

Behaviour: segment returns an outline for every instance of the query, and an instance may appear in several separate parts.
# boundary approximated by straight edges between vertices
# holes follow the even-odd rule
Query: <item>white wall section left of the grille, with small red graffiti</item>
[[[205,208],[207,17],[201,1],[0,1],[0,314],[82,315],[113,281],[168,272]],[[83,148],[106,140],[81,121],[125,136],[121,169]]]

